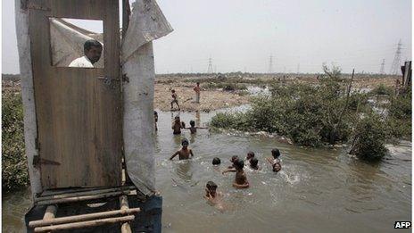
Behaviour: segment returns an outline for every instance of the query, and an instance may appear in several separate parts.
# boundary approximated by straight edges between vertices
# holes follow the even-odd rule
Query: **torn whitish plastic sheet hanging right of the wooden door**
[[[122,41],[123,139],[128,176],[145,195],[155,191],[153,39],[172,31],[153,0],[133,4],[128,30]]]

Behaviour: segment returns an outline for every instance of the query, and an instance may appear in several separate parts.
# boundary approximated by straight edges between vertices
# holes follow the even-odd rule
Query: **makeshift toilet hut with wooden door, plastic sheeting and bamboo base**
[[[29,232],[160,232],[153,159],[153,39],[172,29],[154,0],[16,0]],[[129,13],[130,12],[130,13]],[[62,19],[103,21],[98,34]],[[127,29],[128,28],[128,29]],[[67,67],[87,39],[94,69]]]

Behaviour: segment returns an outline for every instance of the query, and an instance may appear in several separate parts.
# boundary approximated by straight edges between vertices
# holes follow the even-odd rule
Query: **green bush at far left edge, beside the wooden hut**
[[[23,107],[21,94],[2,92],[2,188],[9,192],[29,184],[24,152]]]

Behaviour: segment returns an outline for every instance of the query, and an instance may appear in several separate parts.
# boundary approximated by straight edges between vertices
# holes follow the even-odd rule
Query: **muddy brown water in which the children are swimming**
[[[275,138],[234,135],[199,129],[173,136],[178,112],[159,112],[155,136],[157,188],[163,196],[163,232],[389,232],[394,221],[411,220],[411,142],[388,146],[390,156],[369,164],[348,156],[344,148],[310,149]],[[180,112],[189,125],[206,125],[211,113]],[[190,141],[195,158],[168,159]],[[281,151],[283,169],[275,174],[264,161],[270,150]],[[261,171],[246,170],[251,187],[235,190],[234,174],[222,175],[232,155],[253,151]],[[213,167],[214,157],[221,159]],[[207,204],[203,189],[212,180],[224,193],[224,212]],[[3,197],[3,231],[22,232],[30,206],[29,191]],[[403,231],[403,230],[402,230]]]

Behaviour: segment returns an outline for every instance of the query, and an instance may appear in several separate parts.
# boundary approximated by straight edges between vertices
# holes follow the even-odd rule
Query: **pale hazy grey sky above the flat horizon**
[[[155,70],[390,71],[399,39],[411,59],[410,0],[159,0],[174,31],[154,42]],[[14,1],[2,1],[2,72],[18,73]]]

